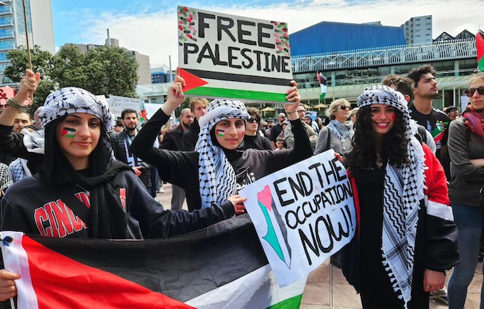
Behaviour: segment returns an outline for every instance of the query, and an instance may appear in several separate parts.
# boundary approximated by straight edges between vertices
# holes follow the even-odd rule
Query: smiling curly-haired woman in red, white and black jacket
[[[443,168],[412,136],[402,94],[372,86],[357,103],[354,148],[345,158],[357,231],[342,250],[343,273],[363,308],[428,308],[428,293],[458,264]]]

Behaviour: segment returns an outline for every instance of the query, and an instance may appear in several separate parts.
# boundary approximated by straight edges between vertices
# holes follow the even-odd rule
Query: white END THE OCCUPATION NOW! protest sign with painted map
[[[330,149],[239,191],[278,285],[307,276],[356,229],[353,190]]]

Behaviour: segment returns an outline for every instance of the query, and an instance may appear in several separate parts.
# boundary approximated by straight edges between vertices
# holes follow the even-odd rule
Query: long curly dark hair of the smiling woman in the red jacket
[[[357,173],[360,169],[378,168],[378,136],[373,131],[372,123],[372,106],[359,109],[357,122],[354,124],[353,150],[349,160],[349,170],[352,173]],[[384,136],[379,149],[384,164],[389,161],[391,165],[401,168],[404,163],[410,162],[406,151],[409,140],[405,136],[405,131],[404,116],[399,110],[395,110],[394,127]]]

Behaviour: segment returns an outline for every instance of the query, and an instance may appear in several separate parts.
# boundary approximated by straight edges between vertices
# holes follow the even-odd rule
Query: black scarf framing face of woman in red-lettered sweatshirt
[[[61,151],[61,146],[57,141],[57,126],[66,116],[62,116],[46,126],[46,148],[44,156],[44,164],[39,171],[41,178],[51,187],[63,187],[77,183],[85,185],[85,188],[98,185],[96,181],[88,180],[87,178],[94,178],[102,175],[105,172],[107,163],[110,161],[112,144],[107,135],[104,124],[100,126],[100,139],[98,146],[96,146],[89,155],[89,166],[85,173],[85,177],[77,173],[70,164],[64,153]]]

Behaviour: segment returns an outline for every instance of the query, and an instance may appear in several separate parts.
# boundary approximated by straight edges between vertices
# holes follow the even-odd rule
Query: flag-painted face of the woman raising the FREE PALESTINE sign
[[[231,118],[215,125],[215,137],[222,148],[236,149],[243,141],[246,125],[242,119]]]

